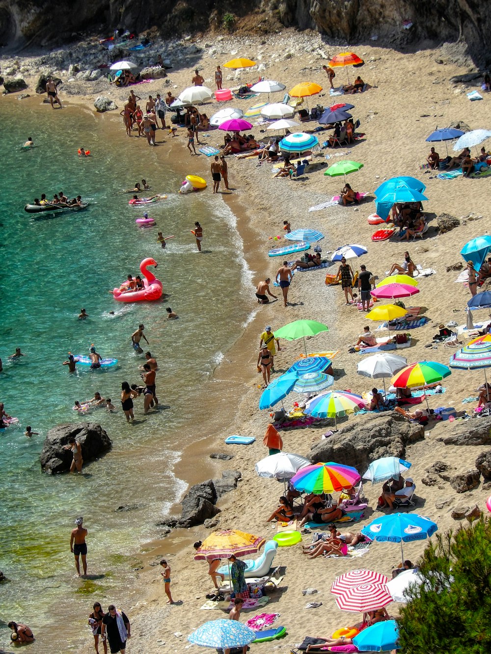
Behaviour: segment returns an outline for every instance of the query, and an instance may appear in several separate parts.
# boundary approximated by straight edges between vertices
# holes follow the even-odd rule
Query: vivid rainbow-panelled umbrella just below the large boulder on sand
[[[291,483],[297,490],[321,494],[351,488],[360,479],[356,468],[331,461],[302,468],[291,478]]]

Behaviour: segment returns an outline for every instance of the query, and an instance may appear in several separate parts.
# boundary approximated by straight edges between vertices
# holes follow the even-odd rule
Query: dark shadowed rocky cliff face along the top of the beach
[[[60,44],[81,33],[111,35],[118,27],[175,36],[227,28],[268,33],[282,25],[348,44],[430,46],[460,39],[476,62],[491,61],[488,0],[0,0],[3,44]]]

